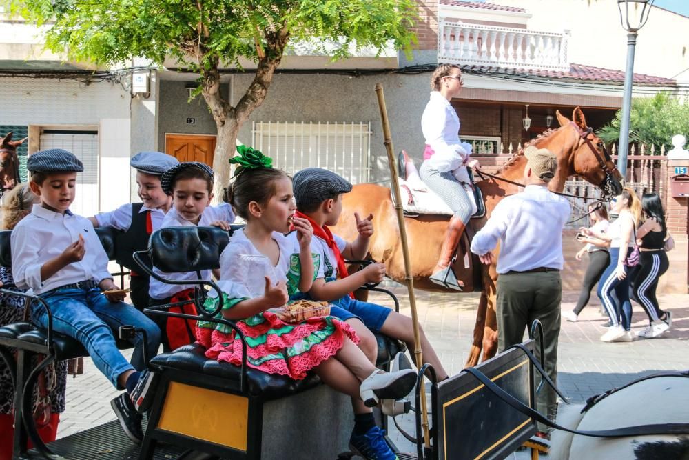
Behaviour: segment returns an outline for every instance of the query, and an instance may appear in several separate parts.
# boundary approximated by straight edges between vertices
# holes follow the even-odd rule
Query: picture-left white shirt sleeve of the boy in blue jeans
[[[12,247],[12,277],[17,288],[40,290],[43,285],[41,280],[41,267],[43,263],[35,262],[38,259],[41,241],[30,228],[18,226],[12,231],[10,237]]]

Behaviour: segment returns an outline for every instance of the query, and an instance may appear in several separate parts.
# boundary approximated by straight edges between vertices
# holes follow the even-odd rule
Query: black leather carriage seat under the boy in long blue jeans
[[[115,257],[114,241],[116,232],[117,230],[112,228],[96,228],[96,234],[101,240],[101,244],[109,260],[113,260]],[[12,267],[12,251],[10,248],[11,234],[11,230],[0,231],[0,266],[8,268]],[[117,337],[116,334],[115,337]],[[37,326],[31,323],[22,322],[1,326],[0,338],[43,346],[48,341],[48,334],[43,328],[37,328]],[[117,338],[115,341],[120,349],[132,348],[132,344],[128,341],[121,341]],[[76,339],[72,339],[72,337],[54,333],[52,335],[52,344],[57,360],[88,356],[88,352],[83,345]]]

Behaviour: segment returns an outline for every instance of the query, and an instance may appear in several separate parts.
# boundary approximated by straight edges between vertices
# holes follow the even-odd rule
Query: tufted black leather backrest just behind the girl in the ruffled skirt
[[[167,227],[148,241],[153,265],[165,273],[196,272],[220,268],[220,254],[229,233],[219,227]]]

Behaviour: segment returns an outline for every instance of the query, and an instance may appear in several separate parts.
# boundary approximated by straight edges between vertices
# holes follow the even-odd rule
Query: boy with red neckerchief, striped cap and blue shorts
[[[294,175],[292,184],[296,215],[308,219],[313,226],[311,252],[316,280],[307,294],[308,298],[328,301],[334,306],[331,315],[347,323],[358,319],[370,330],[401,340],[413,350],[411,318],[375,303],[358,301],[351,294],[366,283],[379,283],[385,276],[382,263],[372,263],[351,275],[345,266],[345,260],[362,260],[368,254],[369,239],[373,234],[372,215],[361,219],[357,213],[354,214],[359,235],[351,242],[332,234],[328,228],[338,223],[342,214],[342,194],[351,192],[351,183],[329,170],[307,168]],[[294,232],[290,237],[296,238]],[[445,379],[447,372],[438,355],[421,328],[419,332],[424,363],[431,363],[439,380]]]

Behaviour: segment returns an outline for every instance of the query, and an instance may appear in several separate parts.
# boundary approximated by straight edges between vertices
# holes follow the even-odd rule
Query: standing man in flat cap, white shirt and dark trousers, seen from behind
[[[543,325],[545,370],[557,377],[557,341],[564,266],[562,228],[570,214],[564,197],[548,191],[555,177],[557,157],[533,146],[524,150],[524,191],[497,204],[486,226],[471,242],[471,252],[483,263],[493,259],[492,250],[500,241],[497,261],[497,332],[502,352],[521,343],[524,330],[538,319]],[[537,379],[537,382],[539,379]],[[539,412],[555,416],[555,392],[545,386],[537,396]],[[539,426],[545,430],[544,426]]]

